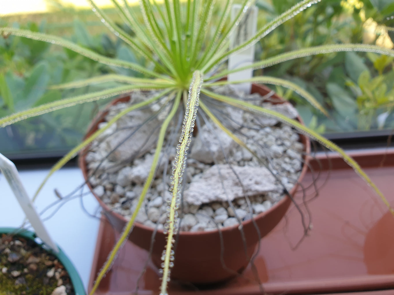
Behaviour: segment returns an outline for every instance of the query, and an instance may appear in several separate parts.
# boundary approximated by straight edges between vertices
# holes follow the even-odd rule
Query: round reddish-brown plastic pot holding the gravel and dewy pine
[[[264,96],[271,92],[267,87],[261,85],[252,85],[251,93],[259,93]],[[128,101],[130,97],[119,98],[114,100],[112,104],[120,101]],[[279,98],[277,95],[270,96],[269,101],[272,103],[288,103]],[[91,135],[97,130],[97,125],[103,122],[106,115],[106,110],[99,114],[97,119],[89,128],[86,136]],[[298,118],[300,122],[301,118]],[[301,142],[305,145],[305,153],[310,152],[309,138],[300,136]],[[81,152],[79,158],[79,165],[82,173],[87,180],[87,166],[85,161],[86,149]],[[307,171],[306,163],[309,161],[308,157],[304,157],[304,166],[299,176],[299,181],[304,177]],[[90,184],[90,190],[93,192]],[[297,185],[290,191],[294,194],[297,190]],[[93,193],[94,195],[94,193]],[[112,212],[106,204],[104,204],[99,197],[97,197],[100,205],[104,209],[104,214],[113,225],[113,227],[121,232],[125,226],[126,219]],[[245,234],[246,249],[242,240],[242,234],[238,225],[227,227],[221,230],[212,230],[209,232],[180,232],[178,236],[177,248],[175,250],[174,267],[171,269],[171,277],[178,280],[192,282],[194,284],[209,284],[220,282],[229,278],[235,277],[249,264],[259,239],[268,234],[283,218],[291,200],[289,197],[283,198],[281,201],[273,205],[268,211],[259,214],[255,218],[258,231],[251,220],[242,223],[243,232]],[[140,223],[135,223],[129,240],[139,247],[149,251],[151,247],[151,237],[153,229]],[[164,250],[166,235],[162,230],[158,230],[155,236],[155,241],[152,251],[152,261],[160,267],[162,252]],[[224,247],[221,246],[221,239]],[[224,262],[224,265],[223,265]]]

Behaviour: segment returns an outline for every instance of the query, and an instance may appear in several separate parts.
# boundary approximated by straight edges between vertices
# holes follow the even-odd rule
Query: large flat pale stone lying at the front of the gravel
[[[249,166],[232,166],[233,170],[227,164],[216,164],[206,170],[202,177],[190,184],[184,192],[187,203],[201,205],[215,201],[230,201],[253,195],[260,195],[276,189],[275,179],[264,167]],[[220,170],[221,178],[218,171]],[[243,190],[243,188],[244,190]],[[223,190],[223,187],[226,191]]]

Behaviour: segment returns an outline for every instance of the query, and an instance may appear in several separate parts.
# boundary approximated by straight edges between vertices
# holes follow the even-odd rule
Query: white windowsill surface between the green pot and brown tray
[[[19,171],[22,183],[30,198],[48,171],[49,169]],[[41,212],[46,206],[59,200],[54,194],[55,188],[64,197],[82,183],[84,183],[84,179],[79,168],[63,168],[54,173],[35,201],[37,211]],[[0,192],[0,227],[20,227],[25,217],[24,212],[1,174]],[[86,186],[84,192],[88,192]],[[99,203],[93,195],[90,193],[85,195],[83,201],[84,207],[89,213],[97,212]],[[45,218],[54,212],[57,206],[48,210],[43,214],[43,217]],[[99,230],[99,220],[88,216],[82,209],[81,198],[76,197],[67,201],[52,218],[45,221],[45,226],[53,240],[74,264],[86,290]]]

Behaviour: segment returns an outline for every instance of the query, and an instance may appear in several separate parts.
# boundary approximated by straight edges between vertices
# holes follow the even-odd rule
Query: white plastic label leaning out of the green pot
[[[1,153],[0,170],[6,178],[20,206],[22,207],[22,210],[26,214],[26,218],[29,219],[37,237],[40,238],[53,251],[58,253],[59,249],[56,246],[56,243],[54,243],[52,238],[49,236],[48,231],[46,230],[39,214],[35,210],[32,201],[30,200],[24,186],[22,185],[22,182],[20,181],[19,173],[15,167],[15,164],[4,157]]]

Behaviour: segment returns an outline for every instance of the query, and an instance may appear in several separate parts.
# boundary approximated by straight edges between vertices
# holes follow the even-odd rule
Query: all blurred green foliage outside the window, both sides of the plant
[[[259,22],[269,22],[296,0],[258,2]],[[387,2],[387,3],[386,3]],[[54,2],[55,3],[55,2]],[[365,0],[366,18],[394,26],[394,5]],[[56,7],[57,12],[0,19],[2,25],[54,33],[108,57],[151,67],[134,55],[121,39],[106,32],[91,11]],[[60,10],[59,10],[60,9]],[[106,11],[111,16],[111,9]],[[388,19],[387,19],[388,18]],[[116,21],[116,20],[115,20]],[[309,46],[362,42],[359,9],[346,10],[340,1],[322,1],[285,22],[256,45],[256,60]],[[124,30],[130,28],[118,23]],[[392,36],[393,37],[393,36]],[[138,76],[128,69],[101,65],[70,50],[45,42],[9,36],[0,38],[0,116],[61,98],[115,86],[114,83],[80,89],[53,90],[50,85],[116,73]],[[393,58],[374,53],[340,52],[294,59],[264,69],[264,74],[289,79],[312,93],[331,118],[311,107],[290,90],[274,90],[292,101],[305,123],[320,133],[394,128]],[[0,147],[7,155],[48,151],[63,153],[81,141],[86,127],[102,105],[87,103],[59,110],[0,129]]]

